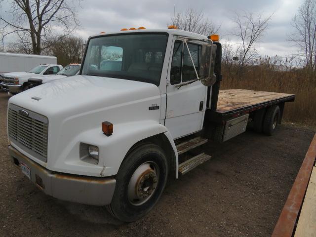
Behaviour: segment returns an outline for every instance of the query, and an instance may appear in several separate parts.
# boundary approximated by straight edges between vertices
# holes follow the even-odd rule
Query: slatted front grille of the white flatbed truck
[[[23,108],[10,105],[8,110],[8,135],[21,149],[42,161],[47,161],[48,120],[34,112],[20,114]],[[45,121],[46,120],[46,121]]]

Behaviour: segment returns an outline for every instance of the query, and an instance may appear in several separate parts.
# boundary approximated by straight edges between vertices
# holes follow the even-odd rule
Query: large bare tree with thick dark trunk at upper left
[[[3,0],[0,0],[0,3]],[[0,16],[1,40],[14,34],[10,47],[26,53],[40,54],[49,47],[49,39],[59,34],[59,40],[79,26],[74,5],[80,0],[11,0],[10,19]],[[53,30],[55,29],[55,30]]]

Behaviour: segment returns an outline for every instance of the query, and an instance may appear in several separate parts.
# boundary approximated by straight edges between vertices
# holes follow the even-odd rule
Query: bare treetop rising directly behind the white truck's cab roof
[[[216,26],[209,19],[204,17],[202,11],[188,8],[185,12],[178,12],[171,16],[171,23],[180,30],[194,32],[200,35],[209,36],[219,31],[220,26]]]

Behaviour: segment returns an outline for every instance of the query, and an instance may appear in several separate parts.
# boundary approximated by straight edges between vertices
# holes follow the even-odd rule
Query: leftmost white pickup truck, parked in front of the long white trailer
[[[54,75],[63,66],[57,64],[40,64],[29,72],[4,73],[1,76],[1,89],[12,94],[19,93],[28,89],[28,79],[35,75]]]

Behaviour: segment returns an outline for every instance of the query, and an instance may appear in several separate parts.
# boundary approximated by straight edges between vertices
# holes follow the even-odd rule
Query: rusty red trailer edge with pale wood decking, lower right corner
[[[276,223],[272,237],[316,236],[316,134]]]

